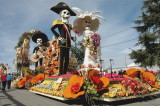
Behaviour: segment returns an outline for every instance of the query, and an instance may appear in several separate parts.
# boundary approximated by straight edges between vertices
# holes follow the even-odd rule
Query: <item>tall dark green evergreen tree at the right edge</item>
[[[160,66],[160,0],[146,0],[140,19],[134,21],[134,28],[139,32],[136,46],[139,50],[130,53],[131,59],[141,66]]]

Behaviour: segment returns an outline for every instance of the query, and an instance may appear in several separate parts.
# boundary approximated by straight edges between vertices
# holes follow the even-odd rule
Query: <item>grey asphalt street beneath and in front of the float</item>
[[[94,101],[96,106],[160,106],[160,94],[116,102]],[[0,106],[82,106],[81,100],[59,101],[26,89],[0,90]]]

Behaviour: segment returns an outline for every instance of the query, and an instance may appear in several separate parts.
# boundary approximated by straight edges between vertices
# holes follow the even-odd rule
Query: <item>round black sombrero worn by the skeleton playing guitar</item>
[[[48,42],[48,37],[46,34],[42,33],[42,32],[35,32],[32,36],[32,41],[37,43],[37,39],[41,38],[42,39],[42,43],[46,43]]]

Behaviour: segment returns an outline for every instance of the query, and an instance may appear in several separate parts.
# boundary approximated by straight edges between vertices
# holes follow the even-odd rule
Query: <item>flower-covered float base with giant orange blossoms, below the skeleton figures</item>
[[[126,71],[127,77],[114,75],[112,78],[95,69],[79,71],[75,75],[50,76],[30,90],[60,100],[90,95],[91,99],[117,101],[159,93],[160,85],[155,75],[140,70],[131,68]]]

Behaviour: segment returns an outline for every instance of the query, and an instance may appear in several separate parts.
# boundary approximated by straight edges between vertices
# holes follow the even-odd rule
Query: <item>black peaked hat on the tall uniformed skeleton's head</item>
[[[59,14],[62,10],[65,10],[65,9],[67,9],[70,12],[71,16],[76,16],[76,13],[74,13],[69,8],[69,6],[66,3],[64,3],[64,2],[59,2],[56,6],[51,7],[50,10],[52,10],[55,13]]]

